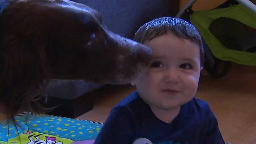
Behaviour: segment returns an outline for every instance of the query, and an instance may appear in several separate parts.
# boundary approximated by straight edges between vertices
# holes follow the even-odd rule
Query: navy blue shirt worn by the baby
[[[225,144],[208,103],[193,98],[168,124],[135,91],[111,110],[95,144],[132,144],[138,138],[153,144]]]

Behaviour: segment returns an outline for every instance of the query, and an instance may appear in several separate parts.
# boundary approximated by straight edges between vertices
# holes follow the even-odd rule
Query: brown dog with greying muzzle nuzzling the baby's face
[[[152,51],[110,32],[101,16],[68,0],[10,0],[0,15],[0,99],[13,116],[45,80],[127,83]]]

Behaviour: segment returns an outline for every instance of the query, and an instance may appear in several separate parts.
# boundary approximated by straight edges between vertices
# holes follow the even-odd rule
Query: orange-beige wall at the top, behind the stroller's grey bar
[[[180,9],[184,7],[189,0],[180,0]],[[226,2],[226,0],[197,0],[193,5],[193,10],[207,10],[214,8],[222,3]]]

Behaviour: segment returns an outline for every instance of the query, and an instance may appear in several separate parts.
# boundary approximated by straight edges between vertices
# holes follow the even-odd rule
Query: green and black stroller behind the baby
[[[225,76],[231,62],[256,66],[256,0],[227,0],[211,10],[193,11],[195,2],[190,0],[176,17],[200,32],[208,74]]]

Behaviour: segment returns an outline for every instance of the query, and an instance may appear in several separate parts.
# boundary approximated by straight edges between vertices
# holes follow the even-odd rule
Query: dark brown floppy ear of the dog
[[[24,39],[10,35],[2,42],[0,99],[12,116],[23,102],[33,99],[34,90],[47,79],[49,67],[43,45],[34,48]]]

